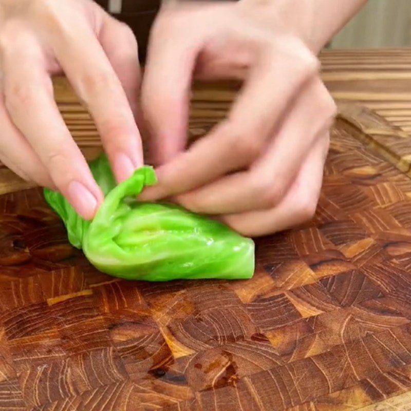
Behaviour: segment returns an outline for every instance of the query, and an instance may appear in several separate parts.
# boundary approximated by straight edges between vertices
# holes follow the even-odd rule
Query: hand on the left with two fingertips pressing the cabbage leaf
[[[118,181],[143,164],[132,30],[91,0],[0,0],[0,160],[59,190],[84,218],[103,194],[53,98],[64,72],[94,118]]]

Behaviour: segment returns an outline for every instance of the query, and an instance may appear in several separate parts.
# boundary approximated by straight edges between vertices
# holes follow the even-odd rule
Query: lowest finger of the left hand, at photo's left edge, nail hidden
[[[2,162],[15,174],[26,181],[34,181],[50,189],[55,189],[46,167],[35,154],[30,144],[12,123],[4,105],[4,97],[0,99],[0,157]]]

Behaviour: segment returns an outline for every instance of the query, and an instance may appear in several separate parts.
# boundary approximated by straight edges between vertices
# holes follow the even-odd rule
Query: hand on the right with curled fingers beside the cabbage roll
[[[239,2],[160,14],[142,86],[159,184],[141,199],[173,197],[252,236],[313,215],[335,104],[306,42],[309,25],[289,27],[279,9]],[[185,151],[192,77],[245,84],[228,118]]]

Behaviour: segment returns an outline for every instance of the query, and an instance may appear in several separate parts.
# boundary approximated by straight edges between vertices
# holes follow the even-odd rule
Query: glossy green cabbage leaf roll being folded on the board
[[[156,183],[151,167],[117,186],[106,156],[92,161],[90,169],[105,195],[94,220],[82,219],[60,193],[45,189],[44,195],[64,221],[71,244],[99,270],[146,281],[252,277],[251,239],[181,207],[137,201],[144,186]]]

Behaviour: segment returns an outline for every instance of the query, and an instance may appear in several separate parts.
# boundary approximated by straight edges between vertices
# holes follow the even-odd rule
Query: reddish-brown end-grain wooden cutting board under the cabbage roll
[[[197,89],[193,136],[232,95]],[[0,196],[0,411],[411,409],[408,134],[342,99],[315,218],[256,240],[249,281],[120,281],[68,245],[39,189]]]

